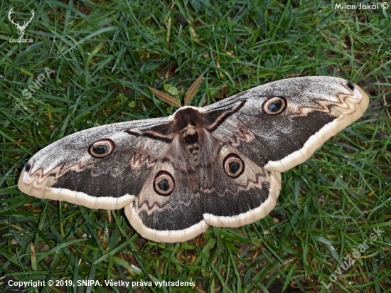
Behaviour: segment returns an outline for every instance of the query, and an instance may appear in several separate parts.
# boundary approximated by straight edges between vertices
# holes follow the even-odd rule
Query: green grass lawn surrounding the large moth
[[[306,0],[0,5],[4,292],[18,289],[10,281],[37,280],[45,286],[27,292],[391,292],[390,9],[342,11]],[[11,7],[16,19],[36,11],[25,33],[33,43],[9,42],[17,38]],[[45,68],[55,73],[27,99],[22,91]],[[370,94],[370,106],[283,174],[279,204],[266,218],[209,228],[186,243],[140,238],[123,211],[18,191],[21,169],[43,146],[100,124],[167,116],[173,107],[147,86],[171,85],[182,97],[203,72],[197,106],[303,75],[352,80]],[[355,249],[363,250],[357,260]],[[336,273],[348,255],[355,263]],[[87,279],[102,287],[70,285]],[[106,286],[110,279],[131,284]],[[152,285],[132,283],[141,280]]]

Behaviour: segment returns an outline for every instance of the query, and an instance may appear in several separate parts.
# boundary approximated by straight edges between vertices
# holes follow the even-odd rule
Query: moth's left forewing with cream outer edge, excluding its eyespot
[[[139,194],[148,170],[166,146],[160,140],[135,137],[126,131],[166,121],[123,122],[71,134],[38,151],[28,161],[18,188],[29,196],[88,208],[123,208]],[[92,156],[92,144],[102,139],[113,143],[111,153]]]

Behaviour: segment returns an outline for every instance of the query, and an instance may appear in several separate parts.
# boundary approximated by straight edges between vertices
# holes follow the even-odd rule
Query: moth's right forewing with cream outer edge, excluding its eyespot
[[[269,97],[283,97],[286,110],[262,111]],[[368,95],[341,78],[290,78],[254,87],[204,107],[205,113],[245,100],[213,135],[270,171],[286,171],[309,159],[327,139],[362,116]]]

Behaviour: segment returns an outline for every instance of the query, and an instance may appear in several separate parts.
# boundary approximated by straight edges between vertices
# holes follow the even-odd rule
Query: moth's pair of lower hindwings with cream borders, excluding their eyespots
[[[186,241],[208,229],[239,227],[267,215],[277,203],[281,186],[278,172],[266,171],[242,156],[245,171],[231,179],[223,170],[225,157],[235,149],[220,146],[213,164],[182,172],[170,158],[161,159],[146,179],[140,195],[125,213],[144,238],[158,242]],[[160,196],[152,183],[161,170],[172,174],[175,189]]]

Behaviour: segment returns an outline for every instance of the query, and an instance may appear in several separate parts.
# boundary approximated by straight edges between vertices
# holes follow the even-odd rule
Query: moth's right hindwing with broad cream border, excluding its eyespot
[[[235,154],[244,163],[237,178],[227,176],[223,162]],[[200,170],[205,223],[215,227],[240,227],[264,218],[276,206],[281,189],[279,172],[266,171],[237,149],[225,144],[210,169]]]

